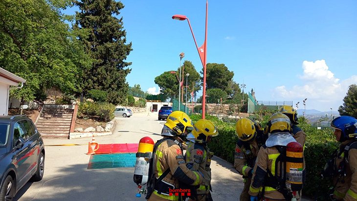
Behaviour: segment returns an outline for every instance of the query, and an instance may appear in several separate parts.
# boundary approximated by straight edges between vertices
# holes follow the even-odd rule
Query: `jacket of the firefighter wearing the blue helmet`
[[[346,157],[347,153],[348,156]],[[337,182],[334,198],[344,201],[357,201],[357,141],[351,139],[342,142],[334,162],[335,174],[337,174],[334,177],[334,184]],[[346,176],[343,175],[344,173],[342,175],[337,173],[340,167],[344,169]]]

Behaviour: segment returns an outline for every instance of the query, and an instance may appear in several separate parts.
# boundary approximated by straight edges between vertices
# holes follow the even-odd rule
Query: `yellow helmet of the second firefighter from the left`
[[[192,134],[197,140],[202,140],[202,143],[207,143],[208,136],[217,136],[218,131],[211,121],[200,119],[193,126]]]

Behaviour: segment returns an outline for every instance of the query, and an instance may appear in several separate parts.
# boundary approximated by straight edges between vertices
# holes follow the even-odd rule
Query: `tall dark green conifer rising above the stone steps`
[[[107,91],[107,101],[122,103],[128,95],[126,76],[131,62],[125,62],[133,50],[126,44],[123,18],[119,15],[124,5],[114,0],[75,1],[80,12],[76,13],[76,29],[87,29],[88,36],[80,37],[85,51],[95,60],[90,69],[84,70],[83,93],[90,89]]]

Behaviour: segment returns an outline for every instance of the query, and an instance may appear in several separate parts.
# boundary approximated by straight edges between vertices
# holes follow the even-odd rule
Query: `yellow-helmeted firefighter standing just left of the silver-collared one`
[[[259,149],[265,143],[267,137],[263,132],[262,126],[248,118],[241,118],[237,121],[236,133],[239,140],[234,152],[234,167],[244,178],[244,188],[239,200],[250,201],[248,191],[253,175],[253,167]]]

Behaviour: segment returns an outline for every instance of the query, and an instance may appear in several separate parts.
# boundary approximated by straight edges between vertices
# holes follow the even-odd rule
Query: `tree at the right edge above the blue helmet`
[[[347,95],[343,98],[343,106],[338,108],[340,115],[357,118],[357,85],[350,85]]]

